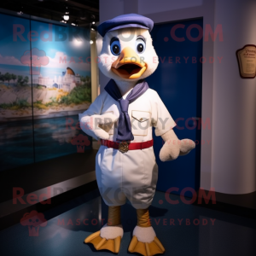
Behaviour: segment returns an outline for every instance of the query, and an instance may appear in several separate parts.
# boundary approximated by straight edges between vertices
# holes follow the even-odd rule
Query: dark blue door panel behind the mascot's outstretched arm
[[[197,191],[201,168],[201,89],[203,20],[182,20],[156,24],[151,32],[159,67],[148,77],[176,121],[173,129],[179,139],[189,138],[196,147],[177,160],[161,162],[163,141],[154,136],[154,154],[159,166],[157,189],[180,195],[185,188]],[[176,189],[171,189],[176,188]],[[192,196],[186,192],[185,196]]]

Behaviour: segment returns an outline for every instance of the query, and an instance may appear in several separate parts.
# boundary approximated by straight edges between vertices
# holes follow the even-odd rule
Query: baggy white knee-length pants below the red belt
[[[148,208],[157,178],[153,147],[121,153],[101,146],[96,154],[96,180],[109,207],[124,205],[127,198],[136,209]]]

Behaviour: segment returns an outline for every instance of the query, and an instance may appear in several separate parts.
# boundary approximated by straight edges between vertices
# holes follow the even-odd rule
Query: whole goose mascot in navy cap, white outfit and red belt
[[[158,178],[152,127],[165,142],[160,150],[162,161],[175,160],[195,148],[193,141],[177,138],[172,116],[144,80],[159,63],[149,34],[153,26],[153,20],[135,14],[120,15],[98,26],[103,38],[99,68],[110,80],[90,108],[79,114],[82,130],[102,143],[96,154],[96,181],[108,205],[108,223],[84,240],[96,250],[119,253],[124,234],[120,207],[128,199],[137,211],[128,251],[165,252],[148,214]]]

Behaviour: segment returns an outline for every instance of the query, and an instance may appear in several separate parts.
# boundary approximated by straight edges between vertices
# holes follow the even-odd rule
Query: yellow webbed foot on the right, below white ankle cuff
[[[144,256],[153,256],[165,253],[166,250],[156,236],[154,241],[151,242],[138,241],[137,236],[133,236],[128,251],[130,253],[140,253]]]

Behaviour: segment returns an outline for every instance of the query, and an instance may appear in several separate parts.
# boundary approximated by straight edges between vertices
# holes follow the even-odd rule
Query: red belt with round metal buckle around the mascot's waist
[[[143,143],[126,143],[126,142],[115,143],[115,142],[106,141],[106,140],[101,140],[101,142],[102,142],[102,146],[119,149],[119,151],[121,151],[122,153],[125,153],[128,150],[144,149],[144,148],[150,148],[153,146],[153,140],[148,142],[143,142]]]

